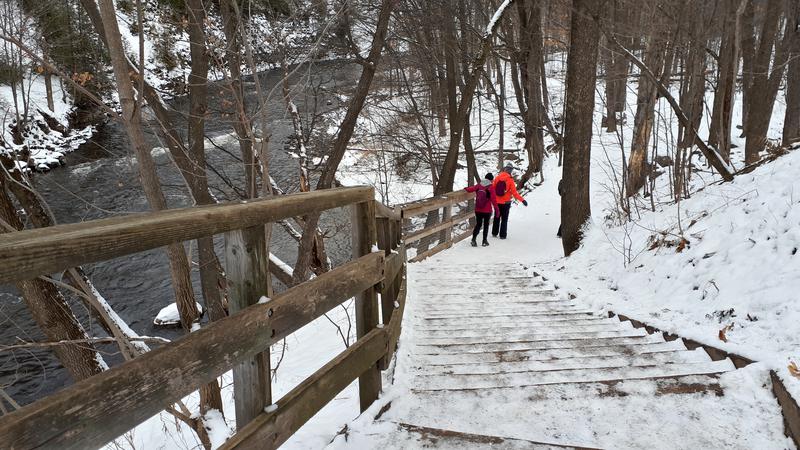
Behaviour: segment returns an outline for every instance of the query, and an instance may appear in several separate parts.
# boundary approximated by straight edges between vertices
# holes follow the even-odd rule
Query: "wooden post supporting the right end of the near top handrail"
[[[353,259],[372,252],[376,241],[375,201],[351,206]],[[356,296],[356,336],[361,339],[378,325],[378,297],[375,287]],[[378,399],[381,391],[381,373],[377,362],[358,377],[358,396],[361,411]]]

